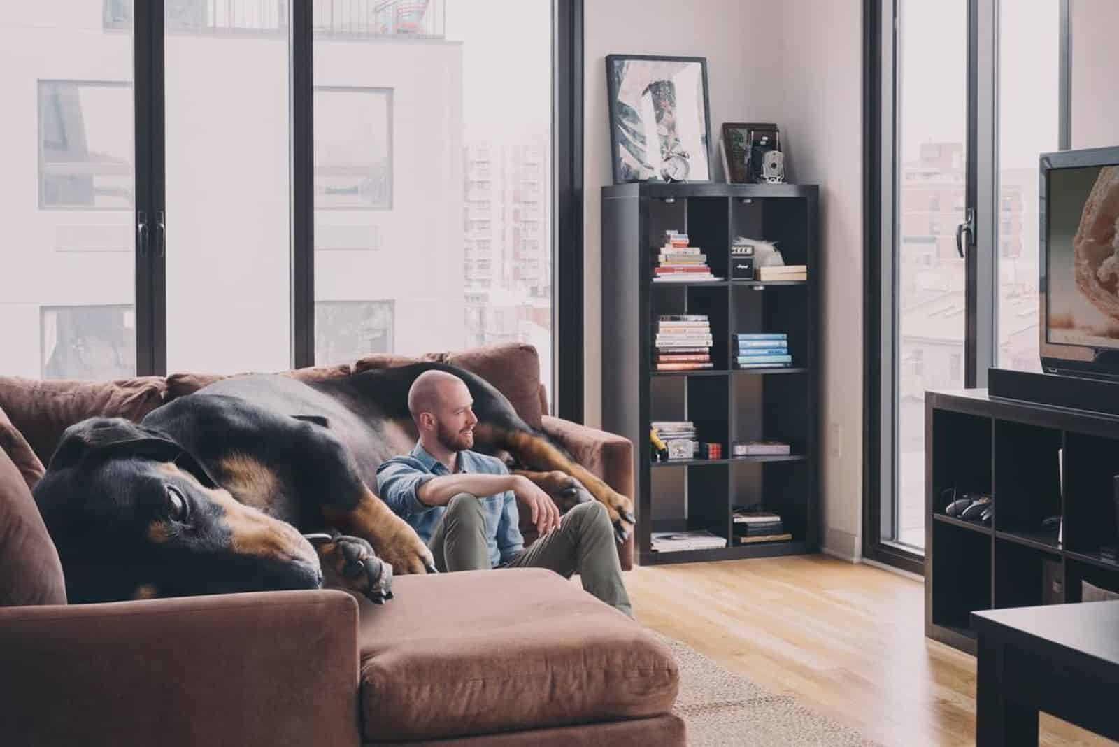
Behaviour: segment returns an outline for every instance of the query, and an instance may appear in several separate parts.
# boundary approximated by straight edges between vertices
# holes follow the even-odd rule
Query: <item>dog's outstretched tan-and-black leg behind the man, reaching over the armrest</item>
[[[507,450],[518,462],[532,470],[558,470],[579,480],[595,500],[606,507],[618,541],[624,542],[629,538],[633,524],[637,523],[633,517],[633,502],[567,456],[547,438],[530,431],[482,423],[474,427],[474,434]]]

